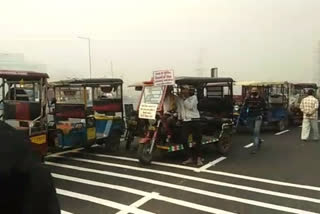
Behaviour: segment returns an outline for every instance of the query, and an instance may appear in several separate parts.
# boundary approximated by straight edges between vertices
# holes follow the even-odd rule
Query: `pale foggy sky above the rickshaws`
[[[54,80],[127,82],[157,69],[236,80],[312,81],[320,76],[319,0],[1,1],[0,53],[47,64]]]

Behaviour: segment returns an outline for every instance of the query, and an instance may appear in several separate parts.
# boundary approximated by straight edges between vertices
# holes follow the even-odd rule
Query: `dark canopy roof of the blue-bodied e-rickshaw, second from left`
[[[72,79],[60,80],[51,82],[50,85],[54,87],[81,85],[81,86],[100,86],[100,85],[120,85],[123,84],[122,79],[118,78],[93,78],[93,79]]]

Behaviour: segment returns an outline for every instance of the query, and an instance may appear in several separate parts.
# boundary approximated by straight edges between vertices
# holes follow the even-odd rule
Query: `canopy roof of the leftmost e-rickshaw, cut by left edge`
[[[49,75],[47,73],[39,73],[34,71],[16,71],[16,70],[0,70],[0,78],[4,78],[10,81],[47,79]]]

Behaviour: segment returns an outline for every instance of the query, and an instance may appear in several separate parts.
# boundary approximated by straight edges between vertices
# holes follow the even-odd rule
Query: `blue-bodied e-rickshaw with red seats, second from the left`
[[[81,79],[51,83],[54,121],[51,145],[119,148],[123,134],[121,79]]]

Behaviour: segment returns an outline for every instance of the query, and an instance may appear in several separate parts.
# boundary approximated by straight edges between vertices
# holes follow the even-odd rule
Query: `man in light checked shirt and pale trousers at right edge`
[[[303,112],[301,140],[306,141],[313,133],[313,140],[319,140],[318,108],[319,101],[314,96],[312,89],[308,90],[308,96],[301,101],[300,109]]]

